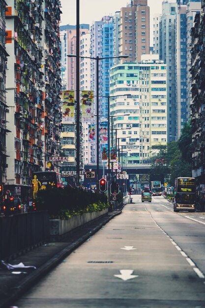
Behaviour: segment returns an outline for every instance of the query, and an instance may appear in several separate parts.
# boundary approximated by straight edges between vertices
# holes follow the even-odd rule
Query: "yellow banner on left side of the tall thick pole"
[[[62,91],[62,122],[75,121],[74,91]]]

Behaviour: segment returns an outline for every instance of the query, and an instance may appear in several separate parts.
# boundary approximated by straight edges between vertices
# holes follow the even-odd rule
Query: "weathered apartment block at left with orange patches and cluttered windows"
[[[32,173],[59,171],[60,1],[8,0],[6,10],[7,181],[30,196]]]

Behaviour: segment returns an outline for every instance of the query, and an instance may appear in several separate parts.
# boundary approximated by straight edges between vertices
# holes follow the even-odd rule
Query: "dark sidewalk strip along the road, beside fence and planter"
[[[126,201],[117,211],[108,212],[108,214],[90,222],[84,228],[79,228],[63,242],[47,243],[9,262],[12,265],[22,262],[26,266],[35,266],[35,270],[26,273],[26,270],[22,269],[23,273],[12,274],[12,272],[15,272],[14,270],[0,269],[0,308],[9,308],[14,305],[15,300],[21,297],[41,277],[62,262],[64,258],[87,241],[108,221],[121,214],[121,209],[125,204]]]

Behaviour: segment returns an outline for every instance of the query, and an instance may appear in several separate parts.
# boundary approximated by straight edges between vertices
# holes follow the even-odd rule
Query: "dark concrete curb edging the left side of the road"
[[[110,216],[105,217],[101,222],[99,222],[99,225],[94,227],[91,231],[87,232],[84,236],[77,239],[72,244],[68,244],[65,248],[63,248],[59,253],[57,253],[55,256],[50,258],[46,263],[41,265],[39,268],[34,270],[33,272],[29,273],[27,277],[25,277],[21,283],[18,285],[18,287],[9,288],[7,291],[8,298],[2,303],[0,303],[0,308],[8,308],[10,305],[14,304],[14,301],[16,301],[19,297],[21,297],[26,291],[29,290],[29,288],[41,277],[46,275],[49,271],[54,269],[65,257],[67,257],[72,251],[74,251],[77,247],[82,245],[88,238],[99,231],[103,225],[108,223],[112,218],[115,216],[121,214],[121,210],[111,214]]]

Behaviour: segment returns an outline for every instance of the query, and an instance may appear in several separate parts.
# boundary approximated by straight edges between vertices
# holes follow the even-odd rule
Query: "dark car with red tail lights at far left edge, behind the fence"
[[[20,198],[5,199],[1,205],[1,213],[5,216],[23,213],[23,204]]]

